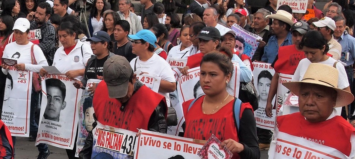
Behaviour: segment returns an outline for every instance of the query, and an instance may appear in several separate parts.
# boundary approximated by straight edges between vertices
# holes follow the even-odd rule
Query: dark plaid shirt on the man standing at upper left
[[[49,20],[41,27],[38,27],[37,23],[33,21],[29,27],[29,30],[34,29],[41,29],[42,39],[39,39],[38,46],[42,49],[48,65],[51,66],[53,64],[54,53],[56,51],[55,29]]]

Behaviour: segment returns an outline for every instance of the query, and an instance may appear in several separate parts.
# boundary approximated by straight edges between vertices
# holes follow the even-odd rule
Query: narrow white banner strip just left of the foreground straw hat
[[[293,75],[287,75],[284,73],[279,73],[279,82],[278,82],[278,87],[277,87],[277,93],[276,93],[276,114],[279,113],[279,110],[281,106],[284,104],[284,100],[286,98],[286,94],[290,93],[290,90],[287,89],[282,83],[284,82],[291,82],[292,81]]]

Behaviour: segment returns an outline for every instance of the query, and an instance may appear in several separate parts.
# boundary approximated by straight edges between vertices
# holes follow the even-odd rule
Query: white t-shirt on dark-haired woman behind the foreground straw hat
[[[328,58],[327,60],[322,61],[322,62],[318,62],[318,63],[324,64],[324,65],[329,65],[329,66],[333,67],[333,65],[336,61],[337,60],[335,60],[333,58]],[[308,60],[307,58],[302,59],[297,66],[295,74],[292,77],[292,81],[301,81],[310,64],[311,64],[311,61]],[[342,65],[341,63],[337,63],[336,67],[339,71],[338,88],[344,89],[349,86],[348,76],[346,75],[344,65]],[[319,71],[322,71],[322,70],[319,70]]]

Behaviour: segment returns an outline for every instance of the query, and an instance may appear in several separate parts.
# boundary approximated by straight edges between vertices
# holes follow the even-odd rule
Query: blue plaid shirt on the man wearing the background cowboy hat
[[[287,45],[292,45],[291,31],[289,31],[286,39],[281,44],[281,46],[287,46]],[[264,61],[264,62],[270,63],[270,64],[273,63],[278,52],[279,52],[279,45],[277,42],[277,37],[276,37],[276,35],[273,35],[270,37],[268,43],[264,47],[264,54],[261,57],[261,61]]]

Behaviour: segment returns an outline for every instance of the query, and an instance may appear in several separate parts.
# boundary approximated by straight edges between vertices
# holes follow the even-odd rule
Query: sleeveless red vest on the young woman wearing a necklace
[[[233,139],[239,141],[237,128],[235,123],[235,117],[233,114],[234,100],[230,101],[218,112],[214,114],[203,114],[202,102],[204,96],[197,99],[195,103],[189,108],[193,99],[182,103],[182,108],[185,117],[185,133],[184,137],[199,140],[208,140],[212,134],[214,134],[222,142],[227,139]],[[243,103],[240,108],[240,117],[245,109],[253,110],[249,103]],[[232,159],[239,159],[239,155],[233,155]]]

